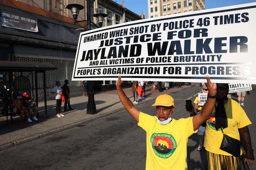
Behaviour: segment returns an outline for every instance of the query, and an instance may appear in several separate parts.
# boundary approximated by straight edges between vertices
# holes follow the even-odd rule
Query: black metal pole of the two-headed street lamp
[[[87,29],[90,29],[90,0],[86,1],[87,7]],[[88,81],[88,104],[87,104],[87,114],[96,114],[96,105],[94,101],[94,87],[93,81]]]

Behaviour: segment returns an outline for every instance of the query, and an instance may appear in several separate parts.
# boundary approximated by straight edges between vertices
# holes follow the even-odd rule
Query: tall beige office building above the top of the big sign
[[[205,0],[148,0],[148,17],[205,9]]]

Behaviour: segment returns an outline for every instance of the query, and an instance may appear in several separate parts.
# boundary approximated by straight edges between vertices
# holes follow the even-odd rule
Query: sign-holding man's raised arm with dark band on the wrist
[[[212,83],[210,81],[210,77],[206,76],[207,83],[205,83],[207,89],[208,89],[208,95],[210,96],[216,96],[217,86],[216,83]],[[216,98],[207,98],[206,103],[204,104],[204,107],[202,108],[201,112],[193,117],[193,127],[194,130],[197,130],[204,121],[206,121],[214,109]]]

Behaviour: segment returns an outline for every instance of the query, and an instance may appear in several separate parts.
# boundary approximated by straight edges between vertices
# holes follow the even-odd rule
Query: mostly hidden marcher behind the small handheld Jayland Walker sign
[[[202,85],[202,93],[208,93],[208,89],[206,87],[206,85]],[[196,96],[195,100],[194,100],[194,109],[196,111],[189,111],[191,116],[194,116],[198,113],[200,113],[200,111],[202,110],[202,106],[199,106],[198,104],[200,104],[200,100],[198,100],[198,96]],[[198,144],[198,147],[197,147],[197,150],[198,151],[201,151],[202,150],[202,146],[203,146],[203,140],[204,140],[204,132],[205,132],[205,127],[206,127],[206,122],[204,122],[199,128],[198,128],[198,131],[197,131],[197,136],[198,136],[198,139],[199,139],[199,144]]]

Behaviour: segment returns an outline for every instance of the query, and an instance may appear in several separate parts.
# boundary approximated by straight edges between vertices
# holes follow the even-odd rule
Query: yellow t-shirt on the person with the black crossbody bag
[[[224,105],[227,115],[227,126],[223,129],[224,134],[240,140],[238,128],[243,128],[251,124],[251,121],[247,117],[243,108],[235,101],[228,98],[228,102]],[[204,147],[207,151],[221,154],[229,155],[231,154],[219,149],[223,139],[223,134],[221,129],[216,131],[215,128],[215,108],[212,111],[212,116],[206,121],[206,130],[204,136]],[[242,150],[241,150],[242,155]]]

